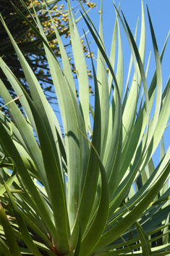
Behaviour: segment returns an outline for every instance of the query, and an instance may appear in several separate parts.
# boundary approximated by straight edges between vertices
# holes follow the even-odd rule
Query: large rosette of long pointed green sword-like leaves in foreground
[[[58,31],[55,29],[62,69],[38,17],[35,18],[39,30],[33,28],[32,23],[19,11],[41,38],[46,51],[61,110],[64,138],[59,126],[61,120],[54,115],[33,70],[1,18],[20,59],[31,99],[1,59],[1,69],[17,96],[24,94],[20,96],[20,104],[25,116],[17,104],[11,102],[12,96],[0,80],[1,97],[6,104],[10,102],[7,106],[14,120],[12,123],[0,112],[0,254],[169,255],[170,150],[164,151],[163,133],[169,120],[170,83],[168,80],[162,92],[161,74],[166,42],[159,55],[148,12],[156,59],[156,71],[148,88],[143,68],[143,1],[139,48],[125,17],[122,20],[116,9],[110,58],[103,44],[102,7],[99,34],[86,13],[83,18],[98,46],[96,69],[91,58],[95,106],[94,112],[90,107],[89,114],[85,56],[69,1],[67,3],[80,102],[77,102],[72,70]],[[127,86],[124,96],[119,22],[122,22],[132,51],[129,73],[132,62],[135,67],[131,86]],[[140,100],[142,84],[145,97],[142,94],[144,99]],[[156,107],[150,119],[154,98]],[[139,108],[138,102],[141,102]],[[152,157],[160,141],[161,160],[155,168]]]

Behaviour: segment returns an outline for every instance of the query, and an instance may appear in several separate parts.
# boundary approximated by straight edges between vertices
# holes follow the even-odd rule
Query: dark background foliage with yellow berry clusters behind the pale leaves
[[[84,0],[83,3],[86,3],[86,0]],[[46,38],[48,38],[48,43],[51,46],[51,49],[54,51],[56,57],[59,58],[61,57],[61,52],[59,51],[59,44],[56,39],[56,33],[54,32],[54,26],[57,28],[59,35],[64,38],[64,46],[67,49],[67,56],[69,58],[70,65],[72,65],[72,72],[76,73],[75,65],[72,63],[72,52],[69,51],[70,33],[67,4],[65,4],[64,7],[64,4],[60,4],[60,0],[48,1],[47,4],[54,21],[54,25],[49,18],[48,12],[46,12],[46,7],[42,0],[24,1],[24,4],[27,6],[27,10],[20,0],[1,1],[0,5],[0,13],[8,25],[14,40],[17,42],[17,45],[20,47],[20,50],[24,54],[25,59],[35,73],[36,78],[41,84],[41,88],[43,88],[44,93],[46,96],[48,96],[48,101],[56,103],[56,94],[54,93],[54,88],[52,86],[53,82],[51,80],[50,70],[48,69],[48,61],[46,59],[46,53],[44,51],[42,41],[40,38],[38,38],[33,28],[30,28],[27,22],[22,19],[12,4],[15,4],[15,6],[20,9],[22,14],[25,15],[27,19],[33,23],[33,25],[35,25],[35,20],[33,17],[31,17],[30,13],[33,14],[33,6],[35,7],[38,18],[41,21],[43,27],[43,32],[46,34]],[[89,1],[86,4],[88,4],[90,9],[96,6],[96,4],[90,3]],[[35,17],[35,15],[33,16]],[[77,18],[76,22],[79,20],[80,17]],[[27,93],[30,94],[29,87],[27,86],[27,80],[25,80],[25,75],[22,71],[20,61],[17,58],[14,47],[10,42],[7,31],[4,29],[4,26],[1,23],[0,28],[0,56],[3,56],[3,59],[7,63],[8,67],[17,76],[18,80],[20,80],[20,82],[25,86]],[[83,44],[83,49],[88,54],[88,50],[86,49],[85,44]],[[4,73],[1,72],[1,70],[0,76],[12,97],[16,96],[11,84],[7,80]],[[4,103],[1,98],[0,103]],[[17,102],[17,104],[22,110],[20,102]],[[6,111],[6,114],[10,116],[7,107],[4,107],[3,111]]]

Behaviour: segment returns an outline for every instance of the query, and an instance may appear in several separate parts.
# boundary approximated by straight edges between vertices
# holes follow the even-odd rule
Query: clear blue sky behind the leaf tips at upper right
[[[78,1],[72,1],[70,0],[70,3],[72,7],[77,7]],[[93,1],[93,3],[97,4],[97,7],[100,9],[101,7],[101,1]],[[61,0],[59,1],[59,4],[64,4],[64,7],[67,9],[66,1]],[[115,0],[116,7],[119,6],[119,1]],[[154,70],[156,68],[155,65],[155,59],[153,54],[153,45],[151,41],[150,36],[150,26],[148,22],[148,13],[146,4],[148,4],[150,17],[153,22],[153,29],[156,34],[156,40],[158,44],[158,50],[161,54],[161,50],[163,48],[163,44],[166,41],[166,37],[170,30],[170,1],[164,0],[164,1],[158,1],[158,0],[149,0],[145,1],[143,0],[144,5],[144,12],[145,12],[145,26],[146,26],[146,49],[145,49],[145,67],[148,62],[148,57],[151,51],[151,58],[150,58],[150,66],[148,70],[148,77],[147,77],[147,83],[148,86],[150,85],[150,81],[153,77]],[[77,8],[79,9],[79,8]],[[76,10],[77,10],[76,9]],[[88,8],[87,8],[88,9]],[[88,13],[91,20],[93,21],[95,28],[98,29],[99,27],[99,19],[100,15],[98,13],[99,9],[93,8]],[[126,17],[126,20],[129,24],[129,28],[131,29],[132,33],[135,34],[135,27],[137,23],[137,18],[140,17],[138,30],[137,30],[137,43],[139,43],[140,38],[140,22],[141,22],[141,1],[140,0],[122,0],[120,9],[124,12],[124,16]],[[80,16],[80,12],[76,17]],[[106,46],[106,49],[108,53],[110,52],[111,48],[111,39],[113,35],[114,30],[114,22],[115,22],[115,10],[114,10],[114,4],[112,0],[103,0],[103,30],[104,30],[104,43]],[[87,27],[85,26],[85,22],[81,20],[78,22],[78,29],[80,31],[80,36],[82,36],[82,28],[87,31]],[[127,38],[125,36],[124,30],[121,25],[121,33],[122,33],[122,44],[123,44],[123,53],[124,53],[124,83],[126,83],[127,80],[127,72],[129,67],[129,58],[130,58],[130,49],[129,44],[127,41]],[[88,40],[90,41],[90,33],[88,33]],[[97,50],[95,48],[95,43],[93,43],[91,46],[92,51],[97,53]],[[170,38],[168,41],[168,44],[166,46],[166,51],[164,54],[163,62],[162,62],[162,74],[163,74],[163,88],[166,85],[166,82],[170,75]],[[165,133],[165,148],[167,149],[170,144],[170,128],[166,129]],[[158,164],[159,161],[159,148],[156,151],[156,154],[153,158],[155,164]]]

